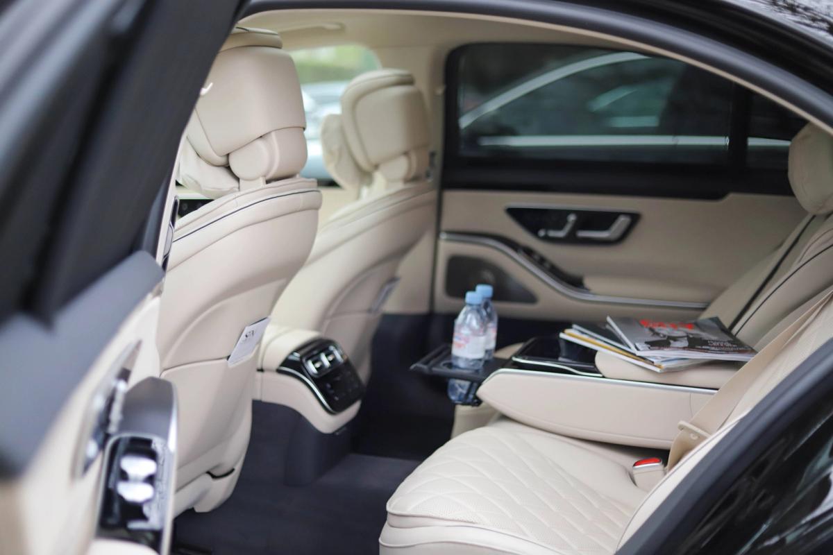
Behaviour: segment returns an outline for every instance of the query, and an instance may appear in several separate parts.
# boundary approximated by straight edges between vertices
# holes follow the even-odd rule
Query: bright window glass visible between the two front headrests
[[[307,48],[291,52],[301,80],[307,113],[307,166],[301,175],[330,181],[321,156],[321,122],[341,112],[341,97],[353,77],[379,68],[371,50],[357,45]]]

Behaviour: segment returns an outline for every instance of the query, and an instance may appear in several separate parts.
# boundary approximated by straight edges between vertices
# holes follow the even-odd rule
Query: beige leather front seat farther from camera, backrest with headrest
[[[408,72],[369,72],[347,86],[341,116],[322,123],[322,149],[327,170],[357,200],[318,231],[307,264],[272,312],[276,326],[336,339],[365,380],[372,335],[399,264],[436,210],[426,179],[427,121]]]

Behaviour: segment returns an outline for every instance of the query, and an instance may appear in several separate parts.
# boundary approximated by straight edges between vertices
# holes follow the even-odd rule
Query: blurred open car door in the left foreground
[[[170,176],[239,2],[12,3],[0,12],[0,43],[14,46],[0,68],[0,553],[167,553],[176,397],[156,341]]]

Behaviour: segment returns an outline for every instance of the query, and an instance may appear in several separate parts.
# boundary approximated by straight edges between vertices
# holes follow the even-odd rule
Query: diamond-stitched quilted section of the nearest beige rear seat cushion
[[[634,510],[582,482],[523,434],[488,427],[438,449],[388,502],[393,514],[495,529],[565,555],[613,553]]]

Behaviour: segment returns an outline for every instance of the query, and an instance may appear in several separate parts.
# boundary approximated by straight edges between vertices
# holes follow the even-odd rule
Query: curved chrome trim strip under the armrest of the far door
[[[539,280],[549,285],[552,289],[576,300],[583,300],[591,303],[606,303],[611,305],[638,305],[638,306],[657,306],[672,309],[686,309],[686,310],[703,310],[708,306],[708,303],[690,300],[659,300],[659,299],[635,299],[633,297],[619,297],[614,295],[598,295],[580,287],[570,285],[564,281],[558,280],[555,277],[547,274],[541,270],[534,262],[526,259],[516,250],[504,245],[499,240],[494,240],[491,237],[483,235],[468,234],[468,233],[454,233],[449,231],[442,231],[440,233],[440,240],[449,241],[451,243],[466,243],[469,245],[486,246],[494,250],[498,250],[512,260],[515,260],[519,265],[523,266],[532,275],[535,275]]]

